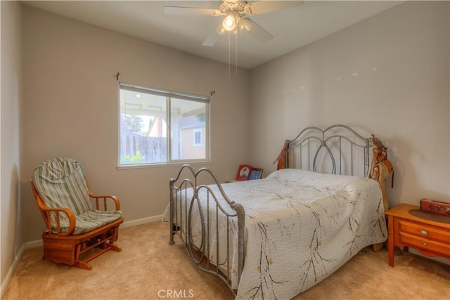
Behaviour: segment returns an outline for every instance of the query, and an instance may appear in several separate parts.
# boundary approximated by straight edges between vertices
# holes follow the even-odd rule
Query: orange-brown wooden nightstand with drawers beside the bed
[[[411,214],[412,211],[416,216]],[[425,213],[411,204],[400,204],[386,211],[389,226],[389,265],[394,266],[394,247],[416,249],[426,256],[444,256],[450,259],[449,217]],[[437,221],[441,219],[441,221]]]

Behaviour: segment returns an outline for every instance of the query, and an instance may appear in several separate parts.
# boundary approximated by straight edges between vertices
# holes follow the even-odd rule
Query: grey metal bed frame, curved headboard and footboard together
[[[347,143],[349,145],[349,154],[343,149],[342,145]],[[285,151],[285,167],[292,168],[297,165],[295,169],[307,169],[309,171],[318,171],[319,161],[328,159],[331,162],[331,174],[343,174],[354,175],[354,169],[359,168],[362,165],[362,176],[368,176],[369,168],[369,148],[371,148],[371,139],[364,138],[359,135],[349,126],[345,125],[333,125],[327,129],[320,129],[316,126],[310,126],[302,131],[291,141],[288,141],[288,146],[283,150]],[[360,164],[355,164],[354,155],[355,150],[362,152],[362,160]],[[291,159],[289,159],[291,157]],[[291,162],[289,162],[289,160]],[[349,165],[350,167],[346,167]],[[319,170],[320,171],[320,170]],[[347,172],[346,172],[347,171]],[[182,177],[182,174],[186,176]],[[210,185],[199,185],[199,177],[202,174],[210,176],[209,180],[219,188],[219,194],[215,195]],[[188,256],[195,263],[198,268],[205,270],[208,273],[217,275],[223,280],[226,285],[231,289],[231,292],[236,296],[237,288],[236,284],[233,288],[233,282],[231,280],[231,266],[230,266],[230,228],[229,226],[236,226],[238,228],[238,280],[243,270],[244,257],[245,257],[245,240],[244,240],[244,226],[245,226],[245,210],[241,204],[238,204],[229,199],[224,192],[224,189],[217,180],[217,177],[207,168],[198,169],[195,171],[193,167],[188,164],[184,164],[175,178],[171,178],[169,181],[170,187],[170,240],[169,244],[174,244],[174,235],[178,235],[182,244],[188,252]],[[192,188],[192,196],[187,199],[188,188]],[[202,207],[200,199],[198,197],[199,192],[205,190],[207,195],[207,207]],[[182,197],[184,196],[184,197]],[[223,207],[219,198],[225,200],[228,203],[229,208]],[[186,203],[187,202],[187,203]],[[191,216],[193,214],[194,204],[197,204],[200,209],[200,221],[201,221],[201,242],[200,245],[193,242],[192,237],[192,224]],[[222,201],[222,203],[224,203]],[[202,210],[205,213],[202,213]],[[216,249],[219,249],[219,218],[215,219],[215,224],[210,223],[210,214],[219,216],[223,214],[226,217],[226,263],[214,264],[210,261],[210,241],[213,240],[212,235],[217,237]],[[206,216],[206,217],[205,217]],[[210,232],[210,228],[215,227],[214,232]],[[214,254],[213,254],[214,255]],[[216,256],[217,262],[219,262],[219,252],[217,250]]]

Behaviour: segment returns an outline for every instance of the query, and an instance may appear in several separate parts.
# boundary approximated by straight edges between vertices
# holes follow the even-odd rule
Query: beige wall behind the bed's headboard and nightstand
[[[391,205],[450,201],[448,1],[408,1],[257,67],[250,94],[265,174],[285,138],[347,124],[387,146]]]

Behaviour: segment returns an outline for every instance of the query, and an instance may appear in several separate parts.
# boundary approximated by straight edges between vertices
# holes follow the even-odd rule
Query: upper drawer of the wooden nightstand
[[[401,233],[409,233],[427,240],[435,240],[450,244],[450,232],[444,228],[426,225],[405,219],[398,219],[398,231]]]

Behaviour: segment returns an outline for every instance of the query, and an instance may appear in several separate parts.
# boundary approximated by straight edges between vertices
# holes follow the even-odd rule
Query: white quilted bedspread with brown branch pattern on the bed
[[[283,169],[222,187],[245,209],[236,299],[291,299],[387,238],[380,185],[369,178]]]

